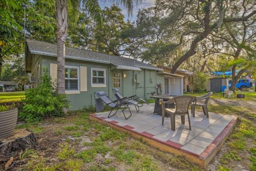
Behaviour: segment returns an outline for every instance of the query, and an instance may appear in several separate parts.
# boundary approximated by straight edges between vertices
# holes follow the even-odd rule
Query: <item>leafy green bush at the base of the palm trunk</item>
[[[49,116],[63,116],[63,108],[69,107],[66,95],[57,94],[53,87],[47,68],[43,70],[39,85],[27,90],[25,96],[25,105],[19,116],[28,122],[40,121]]]

